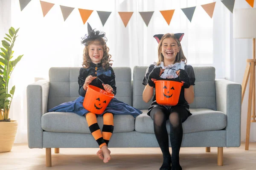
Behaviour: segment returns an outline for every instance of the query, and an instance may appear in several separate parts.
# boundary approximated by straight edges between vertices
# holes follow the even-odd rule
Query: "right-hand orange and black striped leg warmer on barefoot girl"
[[[114,130],[114,117],[112,113],[105,113],[103,115],[102,136],[107,146]]]

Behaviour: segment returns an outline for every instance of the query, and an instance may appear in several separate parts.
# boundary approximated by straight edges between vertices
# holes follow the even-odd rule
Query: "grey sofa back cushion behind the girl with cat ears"
[[[145,103],[142,93],[145,86],[142,79],[145,76],[147,66],[135,66],[133,71],[133,106],[138,109],[148,109],[152,99]],[[216,110],[215,97],[215,68],[193,67],[195,72],[195,99],[190,108],[209,108]]]

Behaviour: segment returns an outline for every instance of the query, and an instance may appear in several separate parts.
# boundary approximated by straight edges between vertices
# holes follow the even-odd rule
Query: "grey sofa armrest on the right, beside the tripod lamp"
[[[217,111],[227,115],[226,147],[241,144],[241,85],[226,79],[216,79]]]

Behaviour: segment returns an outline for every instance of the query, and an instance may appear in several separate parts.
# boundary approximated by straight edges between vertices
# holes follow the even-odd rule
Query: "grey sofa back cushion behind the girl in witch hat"
[[[71,68],[50,68],[49,70],[49,99],[48,109],[61,103],[75,100],[79,97],[79,76],[80,67]],[[131,68],[113,67],[116,76],[117,93],[115,98],[132,104]]]

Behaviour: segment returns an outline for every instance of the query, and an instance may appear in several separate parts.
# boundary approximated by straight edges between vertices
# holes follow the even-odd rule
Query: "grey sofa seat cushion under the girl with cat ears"
[[[147,115],[148,110],[135,119],[135,130],[140,133],[154,133],[153,120]],[[227,125],[226,114],[211,109],[190,109],[191,116],[183,122],[183,133],[194,133],[208,130],[221,130]],[[167,132],[170,134],[169,121],[166,123]]]

